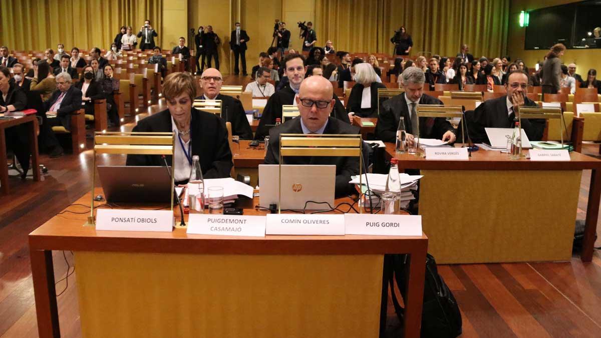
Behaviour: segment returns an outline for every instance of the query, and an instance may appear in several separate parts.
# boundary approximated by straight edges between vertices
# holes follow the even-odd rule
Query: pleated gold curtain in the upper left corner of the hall
[[[162,0],[0,0],[0,44],[13,50],[109,49],[121,26],[137,34],[144,20],[159,34]],[[55,51],[56,52],[56,51]]]

